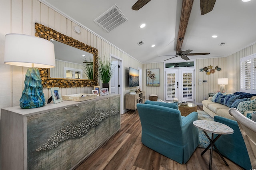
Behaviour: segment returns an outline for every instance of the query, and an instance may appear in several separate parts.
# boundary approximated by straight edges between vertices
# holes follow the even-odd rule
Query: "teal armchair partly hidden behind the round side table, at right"
[[[215,142],[220,154],[246,170],[252,168],[243,136],[236,121],[220,116],[214,116],[214,121],[228,125],[234,130],[233,134],[225,134]],[[217,135],[214,134],[214,138]]]

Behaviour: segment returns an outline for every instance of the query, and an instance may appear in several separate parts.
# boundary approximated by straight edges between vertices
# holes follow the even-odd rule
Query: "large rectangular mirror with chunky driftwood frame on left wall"
[[[57,31],[55,31],[51,28],[48,28],[42,24],[36,23],[35,29],[36,29],[36,33],[35,33],[36,37],[44,38],[44,39],[52,41],[52,42],[55,41],[54,45],[56,47],[59,45],[68,45],[68,46],[62,47],[61,49],[63,49],[63,48],[69,49],[71,47],[71,48],[73,48],[73,49],[70,49],[72,51],[80,50],[78,52],[79,55],[81,53],[83,53],[82,51],[85,52],[85,53],[83,53],[84,58],[81,57],[79,59],[72,60],[72,58],[74,58],[72,55],[72,57],[69,57],[69,58],[71,58],[70,61],[64,61],[64,62],[68,62],[68,63],[77,63],[75,60],[78,60],[78,63],[80,62],[80,65],[83,65],[82,67],[84,67],[84,71],[80,71],[79,73],[76,71],[76,73],[78,73],[77,75],[73,74],[73,77],[72,77],[72,74],[71,74],[72,78],[71,77],[67,78],[69,76],[67,76],[66,73],[68,73],[68,71],[70,71],[70,68],[68,66],[66,67],[66,68],[68,68],[68,71],[65,72],[65,76],[56,75],[56,73],[54,74],[54,69],[51,70],[52,73],[49,68],[39,69],[43,87],[50,88],[50,87],[98,86],[98,49],[96,49],[90,45],[86,45],[83,42],[79,42],[78,40],[75,40],[72,37],[68,37],[64,34],[61,34],[60,32],[57,32]],[[57,49],[57,50],[60,50],[60,49]],[[65,52],[59,51],[59,52],[68,53],[67,51],[65,51]],[[62,62],[62,61],[60,58],[57,57],[56,67],[58,67],[59,62]],[[87,76],[86,69],[85,69],[86,67],[91,67],[93,69],[92,76]],[[60,70],[62,70],[64,72],[64,70],[66,71],[66,68],[61,68]],[[74,69],[76,69],[76,68],[74,68]]]

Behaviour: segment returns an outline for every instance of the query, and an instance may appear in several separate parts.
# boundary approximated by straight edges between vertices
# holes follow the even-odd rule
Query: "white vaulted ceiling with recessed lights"
[[[151,0],[139,10],[132,10],[137,0],[40,1],[65,13],[142,63],[162,62],[176,55],[182,0]],[[216,0],[213,10],[204,15],[200,12],[200,0],[191,4],[181,49],[210,54],[190,55],[190,60],[226,57],[256,42],[256,0]],[[106,32],[94,20],[114,5],[127,21]],[[143,23],[146,26],[140,28]],[[212,38],[213,35],[218,37]],[[144,44],[138,45],[141,41]],[[151,47],[153,44],[155,47]],[[175,57],[166,62],[173,61],[184,60]]]

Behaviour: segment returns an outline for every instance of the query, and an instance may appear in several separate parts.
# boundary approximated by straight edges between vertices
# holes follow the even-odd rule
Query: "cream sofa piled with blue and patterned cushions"
[[[235,93],[216,93],[208,100],[202,101],[203,110],[210,115],[225,117],[236,120],[228,113],[231,107],[237,108],[243,115],[256,111],[256,94],[235,92]]]

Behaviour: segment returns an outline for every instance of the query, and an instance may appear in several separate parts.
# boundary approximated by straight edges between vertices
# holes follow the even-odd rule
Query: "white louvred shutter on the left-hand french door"
[[[166,100],[173,100],[176,97],[176,71],[166,71]]]

